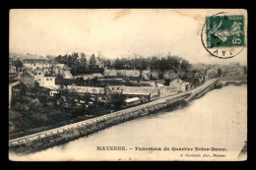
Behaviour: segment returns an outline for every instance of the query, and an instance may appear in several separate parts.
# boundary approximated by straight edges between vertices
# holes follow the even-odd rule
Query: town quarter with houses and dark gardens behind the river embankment
[[[183,69],[168,69],[171,66],[164,66],[167,60],[158,60],[165,67],[160,69],[157,64],[133,68],[133,62],[121,59],[118,62],[123,66],[118,67],[114,61],[95,58],[95,61],[87,59],[90,64],[86,65],[83,58],[72,61],[72,56],[62,56],[59,60],[49,56],[34,58],[33,55],[30,59],[10,57],[9,130],[12,138],[24,135],[21,132],[35,133],[66,125],[74,119],[85,120],[171,96],[212,78],[242,76],[247,72],[235,63],[193,65],[190,69],[184,69],[183,64]],[[76,63],[79,67],[74,65]],[[79,73],[74,74],[76,70]]]

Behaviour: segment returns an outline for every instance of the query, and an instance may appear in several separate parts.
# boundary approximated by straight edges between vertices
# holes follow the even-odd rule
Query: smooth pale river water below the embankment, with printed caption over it
[[[237,158],[246,141],[247,85],[228,85],[214,89],[187,105],[164,109],[29,155],[10,153],[10,158],[54,161],[232,160]],[[96,150],[96,146],[125,146],[127,150]],[[135,150],[135,147],[160,147],[161,150]],[[163,151],[163,147],[170,150]],[[194,150],[172,150],[179,147]],[[196,151],[195,147],[224,148],[225,151]],[[203,158],[204,153],[209,155]],[[216,157],[213,153],[223,157]]]

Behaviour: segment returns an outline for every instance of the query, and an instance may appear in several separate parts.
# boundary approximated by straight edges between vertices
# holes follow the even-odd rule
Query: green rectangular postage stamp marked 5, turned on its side
[[[245,45],[244,16],[213,16],[206,20],[208,48]]]

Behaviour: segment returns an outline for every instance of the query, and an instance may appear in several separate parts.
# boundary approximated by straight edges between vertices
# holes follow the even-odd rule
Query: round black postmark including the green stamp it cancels
[[[221,12],[206,17],[201,41],[214,57],[228,59],[238,55],[246,42],[244,15]]]

